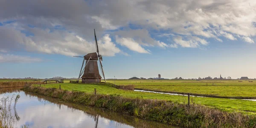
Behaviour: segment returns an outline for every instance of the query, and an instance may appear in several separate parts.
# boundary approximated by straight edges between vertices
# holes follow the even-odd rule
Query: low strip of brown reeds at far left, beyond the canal
[[[41,82],[41,81],[7,81],[7,82],[0,81],[0,88],[23,87],[29,84],[43,84],[43,83],[44,82]]]

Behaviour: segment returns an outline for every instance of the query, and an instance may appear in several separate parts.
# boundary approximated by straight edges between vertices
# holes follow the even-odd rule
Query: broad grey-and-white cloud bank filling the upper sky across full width
[[[209,38],[253,44],[256,1],[1,0],[0,19],[3,24],[0,26],[0,46],[4,51],[26,49],[48,54],[85,55],[96,51],[95,28],[102,55],[128,55],[115,43],[139,53],[149,53],[145,49],[150,47],[200,47],[211,43],[207,41]],[[15,22],[5,23],[9,20]],[[168,41],[155,39],[152,31],[158,33],[157,38],[172,38]]]

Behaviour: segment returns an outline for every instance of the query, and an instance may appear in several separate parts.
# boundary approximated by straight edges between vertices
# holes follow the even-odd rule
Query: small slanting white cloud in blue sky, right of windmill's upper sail
[[[132,38],[119,38],[118,36],[116,36],[116,42],[121,46],[125,46],[132,51],[139,53],[149,53],[147,50],[141,47],[139,43],[135,42]]]

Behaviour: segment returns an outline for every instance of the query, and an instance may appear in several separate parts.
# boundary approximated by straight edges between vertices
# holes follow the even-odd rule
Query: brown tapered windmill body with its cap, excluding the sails
[[[90,59],[90,60],[89,60]],[[102,77],[99,74],[98,55],[96,52],[84,55],[86,67],[81,77],[82,83],[100,82]]]

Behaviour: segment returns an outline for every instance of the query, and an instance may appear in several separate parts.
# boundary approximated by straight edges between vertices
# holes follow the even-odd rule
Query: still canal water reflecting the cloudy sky
[[[158,122],[146,121],[107,110],[61,102],[44,96],[17,90],[0,89],[0,98],[20,95],[16,105],[15,127],[29,128],[170,128]],[[16,116],[16,117],[17,117]]]

